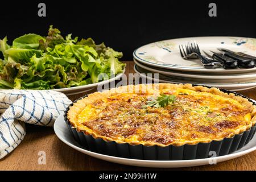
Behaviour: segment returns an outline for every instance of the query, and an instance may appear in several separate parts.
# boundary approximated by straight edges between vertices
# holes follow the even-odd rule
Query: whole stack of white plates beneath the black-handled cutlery
[[[198,37],[163,40],[147,44],[133,52],[134,71],[151,79],[147,73],[159,73],[159,82],[191,83],[233,91],[256,87],[256,67],[250,69],[204,68],[200,60],[184,60],[179,45],[195,40],[201,50],[209,52],[222,47],[256,56],[256,39],[239,37]]]

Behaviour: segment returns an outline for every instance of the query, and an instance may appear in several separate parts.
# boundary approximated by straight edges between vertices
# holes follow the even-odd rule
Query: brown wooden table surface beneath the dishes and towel
[[[133,61],[126,61],[126,74],[134,73]],[[256,89],[239,92],[256,100]],[[71,100],[82,94],[70,96]],[[46,164],[38,164],[38,152],[46,152]],[[52,127],[27,125],[27,134],[22,143],[0,160],[0,170],[256,170],[256,151],[221,162],[187,168],[143,168],[125,166],[92,158],[67,146],[56,137]]]

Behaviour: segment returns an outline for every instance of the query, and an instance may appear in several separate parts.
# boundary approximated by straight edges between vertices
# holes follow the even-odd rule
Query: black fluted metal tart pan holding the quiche
[[[197,85],[193,85],[197,86]],[[210,88],[209,86],[206,86]],[[229,90],[220,89],[225,93],[234,93],[236,96],[247,98],[242,94],[231,92]],[[81,97],[78,100],[85,98]],[[247,98],[253,105],[256,103]],[[77,100],[76,100],[77,101]],[[75,103],[74,101],[73,103]],[[144,146],[142,144],[131,145],[129,143],[117,143],[114,141],[108,142],[101,138],[94,138],[92,135],[86,135],[84,132],[77,131],[75,127],[69,123],[67,118],[67,112],[69,107],[73,106],[73,103],[67,107],[64,114],[65,123],[75,140],[86,150],[97,152],[105,155],[118,156],[122,158],[130,159],[144,159],[144,160],[189,160],[189,159],[203,159],[212,156],[210,151],[216,152],[216,156],[222,156],[230,154],[234,151],[245,146],[254,137],[256,126],[251,126],[250,130],[244,131],[241,134],[234,135],[232,138],[224,138],[222,140],[213,140],[209,143],[197,143],[197,144],[184,144],[183,146],[169,145],[166,147],[160,146]],[[210,155],[209,155],[210,154]]]

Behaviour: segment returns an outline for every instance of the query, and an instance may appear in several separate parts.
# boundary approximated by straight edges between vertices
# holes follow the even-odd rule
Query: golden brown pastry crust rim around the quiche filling
[[[158,95],[159,90],[175,90],[175,89],[189,89],[196,92],[207,92],[214,94],[216,96],[222,96],[225,98],[232,98],[233,100],[238,101],[242,106],[243,109],[248,110],[251,114],[251,121],[247,123],[247,125],[239,126],[239,123],[233,122],[221,122],[217,123],[216,128],[222,129],[222,128],[236,128],[235,130],[232,130],[232,132],[229,132],[228,135],[225,137],[230,138],[233,137],[236,134],[241,134],[245,130],[249,130],[251,126],[255,125],[256,122],[256,107],[253,105],[252,102],[248,101],[246,98],[243,98],[241,96],[235,96],[233,93],[224,93],[221,92],[217,88],[207,88],[204,86],[192,86],[191,84],[152,84],[152,85],[127,85],[127,86],[121,86],[119,88],[114,88],[110,90],[106,90],[104,92],[95,92],[93,94],[89,94],[88,97],[83,98],[81,100],[78,100],[73,104],[73,106],[69,107],[67,118],[68,121],[71,123],[73,127],[75,127],[78,131],[83,131],[86,135],[92,135],[94,138],[102,138],[106,141],[115,141],[117,143],[129,143],[129,144],[143,144],[145,146],[152,146],[152,145],[158,145],[158,146],[168,146],[169,144],[172,144],[174,146],[181,146],[183,144],[197,144],[199,142],[202,143],[208,143],[212,140],[222,140],[225,137],[218,137],[216,135],[216,138],[203,138],[203,139],[190,139],[190,140],[182,140],[182,141],[169,141],[167,143],[164,142],[157,142],[152,140],[123,140],[118,137],[113,137],[112,135],[100,135],[97,134],[95,131],[93,131],[90,127],[87,127],[86,125],[81,125],[79,123],[79,114],[82,112],[82,110],[85,109],[88,105],[97,105],[97,102],[100,102],[102,100],[109,99],[109,97],[117,96],[118,94],[122,93],[140,93],[140,94],[152,94],[152,95]],[[224,111],[225,113],[225,111]],[[213,116],[214,117],[214,116]],[[239,126],[239,127],[237,127]],[[212,134],[213,130],[209,126],[202,126],[197,129],[200,132],[205,132]],[[133,134],[133,130],[128,131]],[[191,133],[191,136],[196,135],[194,133]],[[212,134],[214,136],[214,134]],[[125,136],[126,137],[126,136]],[[196,138],[196,137],[195,137]]]

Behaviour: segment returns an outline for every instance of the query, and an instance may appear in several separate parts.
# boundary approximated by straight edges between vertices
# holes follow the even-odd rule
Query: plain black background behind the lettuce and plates
[[[38,4],[46,3],[46,17]],[[208,5],[217,4],[217,17]],[[64,35],[92,37],[96,43],[122,51],[158,40],[189,36],[245,36],[256,38],[256,1],[2,1],[0,38],[9,43],[26,33],[46,35],[53,24]]]

